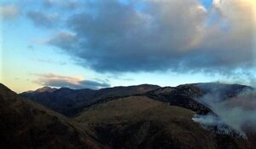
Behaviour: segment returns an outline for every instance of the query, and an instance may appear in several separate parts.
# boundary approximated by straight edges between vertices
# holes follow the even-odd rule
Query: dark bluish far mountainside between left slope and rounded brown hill
[[[30,100],[34,100],[56,112],[61,112],[66,116],[73,116],[80,112],[85,106],[90,106],[99,100],[119,98],[126,95],[143,94],[148,91],[158,89],[156,85],[137,85],[129,87],[114,87],[107,89],[38,89],[34,92],[24,92],[20,95]],[[46,90],[42,92],[42,90]],[[50,91],[49,91],[50,90]]]

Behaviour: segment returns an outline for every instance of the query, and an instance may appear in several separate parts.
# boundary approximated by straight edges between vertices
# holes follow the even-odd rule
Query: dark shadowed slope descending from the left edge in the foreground
[[[101,148],[85,127],[20,98],[0,83],[0,148]]]

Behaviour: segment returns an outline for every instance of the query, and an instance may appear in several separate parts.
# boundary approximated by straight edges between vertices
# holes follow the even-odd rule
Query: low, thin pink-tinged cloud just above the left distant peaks
[[[61,76],[53,73],[38,74],[36,76],[38,76],[38,79],[35,81],[35,83],[56,88],[67,87],[72,89],[102,89],[110,87],[110,85],[106,82],[84,80],[83,77]]]

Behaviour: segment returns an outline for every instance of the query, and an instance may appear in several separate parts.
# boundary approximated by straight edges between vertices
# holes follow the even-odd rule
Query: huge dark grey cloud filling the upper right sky
[[[69,32],[48,44],[97,72],[253,69],[255,2],[218,0],[203,8],[196,0],[90,1],[67,17]]]

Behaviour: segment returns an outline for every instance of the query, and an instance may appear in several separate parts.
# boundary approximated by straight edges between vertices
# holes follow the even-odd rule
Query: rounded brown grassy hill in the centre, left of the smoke
[[[90,106],[75,117],[96,129],[111,148],[248,148],[247,140],[214,134],[192,121],[195,112],[147,96],[130,96]]]

